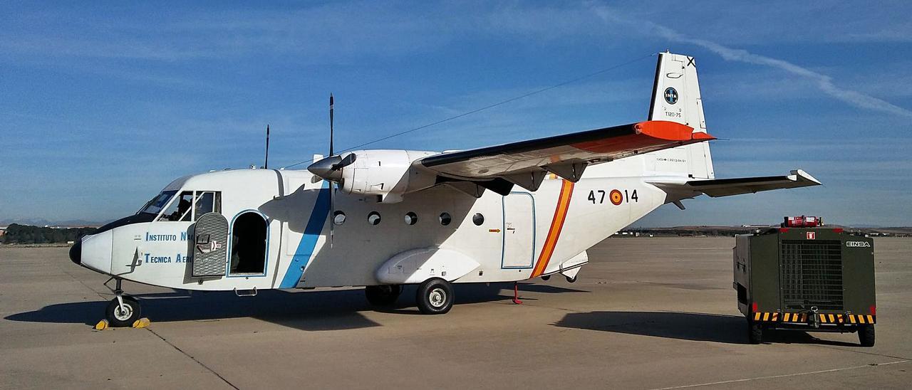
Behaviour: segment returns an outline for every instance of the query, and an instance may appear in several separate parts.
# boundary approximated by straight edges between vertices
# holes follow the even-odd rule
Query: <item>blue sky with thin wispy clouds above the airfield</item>
[[[107,221],[174,178],[270,165],[671,49],[696,56],[717,177],[823,187],[663,206],[635,224],[912,225],[903,2],[0,5],[0,221]],[[470,149],[646,118],[655,58],[372,145]],[[303,167],[303,165],[302,165]],[[300,168],[300,167],[299,167]]]

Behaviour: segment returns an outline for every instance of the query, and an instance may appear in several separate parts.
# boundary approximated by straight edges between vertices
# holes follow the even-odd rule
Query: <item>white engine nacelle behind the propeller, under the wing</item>
[[[345,193],[378,196],[384,203],[396,203],[402,201],[403,194],[436,184],[437,175],[424,169],[411,169],[412,161],[436,152],[371,149],[351,153],[357,158],[342,169],[339,182],[339,188]]]

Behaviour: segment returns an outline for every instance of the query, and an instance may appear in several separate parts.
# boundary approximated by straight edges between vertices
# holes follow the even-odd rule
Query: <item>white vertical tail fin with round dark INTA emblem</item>
[[[649,120],[668,120],[706,132],[697,64],[692,56],[659,53],[656,82],[652,87]],[[714,179],[710,144],[700,142],[654,153],[650,161],[652,170],[687,173],[696,179]]]

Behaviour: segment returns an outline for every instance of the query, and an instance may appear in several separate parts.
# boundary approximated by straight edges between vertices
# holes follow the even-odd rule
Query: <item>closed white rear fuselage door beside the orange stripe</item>
[[[528,192],[503,197],[502,268],[532,268],[535,254],[535,200]]]

